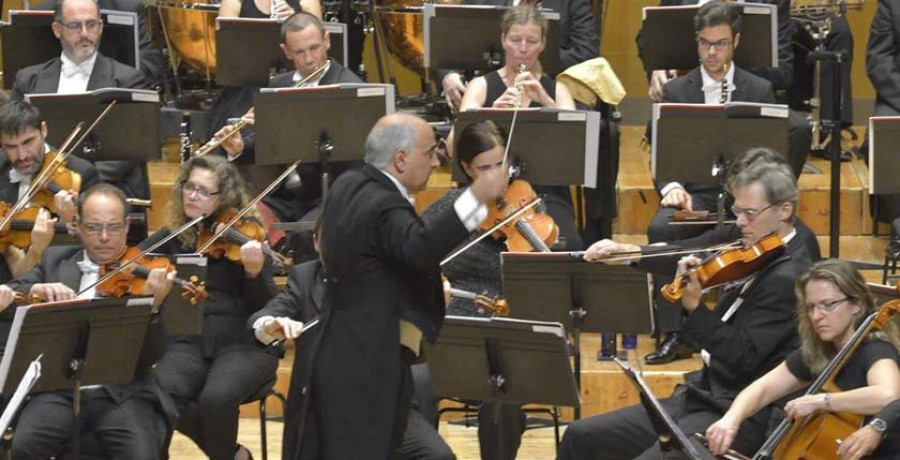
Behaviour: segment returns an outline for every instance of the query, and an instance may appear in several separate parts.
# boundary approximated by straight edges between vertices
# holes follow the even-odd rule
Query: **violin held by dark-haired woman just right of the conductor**
[[[488,217],[481,224],[481,229],[490,231],[492,236],[506,243],[510,252],[550,252],[559,237],[559,227],[553,218],[539,212],[534,207],[520,216],[500,225],[510,215],[538,200],[531,184],[522,179],[515,179],[509,184],[502,199],[488,203]]]

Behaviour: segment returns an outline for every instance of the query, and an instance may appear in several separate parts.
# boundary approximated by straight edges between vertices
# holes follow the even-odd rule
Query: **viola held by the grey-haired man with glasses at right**
[[[693,270],[697,272],[700,285],[703,288],[710,288],[750,276],[769,261],[780,256],[784,252],[784,248],[784,241],[773,233],[755,244],[713,254]],[[677,302],[681,299],[683,284],[687,280],[687,276],[685,273],[663,286],[663,297],[669,302]]]

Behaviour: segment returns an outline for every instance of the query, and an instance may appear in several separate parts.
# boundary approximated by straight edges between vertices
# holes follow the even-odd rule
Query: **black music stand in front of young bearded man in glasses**
[[[650,171],[657,183],[715,183],[717,160],[730,164],[754,147],[787,152],[788,108],[777,104],[653,104]]]

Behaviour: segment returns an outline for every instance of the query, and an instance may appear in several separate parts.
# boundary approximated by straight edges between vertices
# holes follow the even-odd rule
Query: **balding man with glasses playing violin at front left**
[[[21,278],[0,286],[0,307],[7,308],[12,291],[47,301],[95,297],[101,266],[119,261],[126,249],[128,203],[125,195],[109,184],[98,184],[79,199],[77,234],[82,246],[54,246],[44,251],[41,262]],[[172,287],[174,272],[152,269],[144,293],[159,307]],[[10,309],[12,310],[12,309]],[[164,410],[172,407],[159,390],[151,366],[160,357],[161,325],[154,322],[136,370],[127,384],[82,389],[81,426],[99,441],[107,458],[158,459],[169,433]],[[50,458],[71,447],[75,424],[71,392],[35,394],[22,410],[12,444],[13,458]],[[87,443],[85,444],[87,445]],[[89,453],[89,452],[85,452]]]

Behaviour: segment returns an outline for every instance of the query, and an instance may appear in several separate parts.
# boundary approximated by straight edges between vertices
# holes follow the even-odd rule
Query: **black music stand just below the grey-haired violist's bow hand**
[[[579,385],[582,332],[652,330],[652,287],[647,273],[586,263],[580,253],[504,252],[500,265],[510,317],[560,322],[572,331]],[[576,418],[579,412],[576,408]]]

